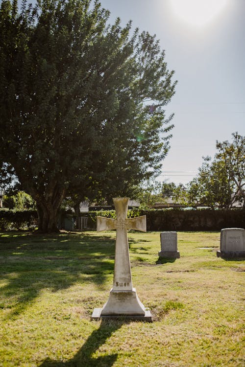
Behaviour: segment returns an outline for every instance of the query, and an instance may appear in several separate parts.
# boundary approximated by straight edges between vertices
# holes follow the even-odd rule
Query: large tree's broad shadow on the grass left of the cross
[[[0,238],[0,308],[25,311],[43,289],[56,292],[92,281],[99,288],[114,270],[115,239],[89,234],[10,234]]]

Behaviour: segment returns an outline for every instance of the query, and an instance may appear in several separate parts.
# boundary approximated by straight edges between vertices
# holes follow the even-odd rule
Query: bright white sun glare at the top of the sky
[[[171,0],[175,14],[184,21],[203,26],[218,15],[227,0]]]

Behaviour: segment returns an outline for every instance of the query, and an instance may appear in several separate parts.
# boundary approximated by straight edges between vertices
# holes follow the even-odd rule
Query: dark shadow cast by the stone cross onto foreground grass
[[[93,358],[92,355],[103,345],[111,335],[123,325],[123,321],[101,321],[99,328],[89,336],[72,360],[67,362],[46,359],[39,367],[111,367],[116,362],[118,354]]]

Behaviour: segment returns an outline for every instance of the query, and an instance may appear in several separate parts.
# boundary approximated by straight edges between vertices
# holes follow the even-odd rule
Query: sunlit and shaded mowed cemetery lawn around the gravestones
[[[0,366],[245,366],[243,259],[219,232],[128,232],[133,286],[153,322],[91,321],[113,281],[115,231],[0,235]],[[202,249],[203,248],[203,249]]]

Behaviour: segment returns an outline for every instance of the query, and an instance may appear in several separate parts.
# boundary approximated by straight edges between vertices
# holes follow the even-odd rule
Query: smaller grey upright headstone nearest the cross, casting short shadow
[[[177,259],[180,257],[177,251],[177,232],[161,232],[161,251],[158,252],[160,257]]]

